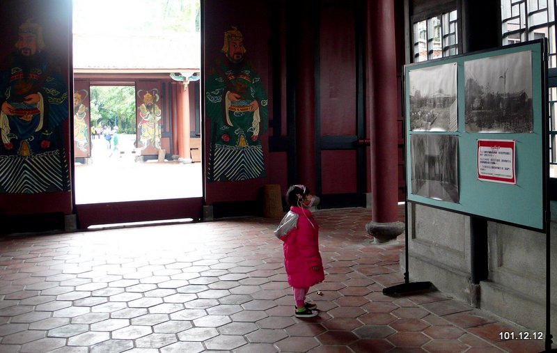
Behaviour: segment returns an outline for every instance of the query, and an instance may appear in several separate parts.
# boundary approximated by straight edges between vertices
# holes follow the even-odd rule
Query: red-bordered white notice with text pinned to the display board
[[[517,184],[515,140],[478,139],[478,180]]]

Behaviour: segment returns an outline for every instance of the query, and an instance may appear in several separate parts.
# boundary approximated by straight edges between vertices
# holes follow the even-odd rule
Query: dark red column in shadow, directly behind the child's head
[[[296,156],[298,182],[315,190],[315,53],[313,35],[313,1],[302,1],[298,22],[296,81]]]

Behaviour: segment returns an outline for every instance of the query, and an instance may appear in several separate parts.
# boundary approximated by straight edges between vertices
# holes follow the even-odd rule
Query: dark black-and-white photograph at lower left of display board
[[[457,203],[458,138],[454,135],[410,136],[412,194]]]

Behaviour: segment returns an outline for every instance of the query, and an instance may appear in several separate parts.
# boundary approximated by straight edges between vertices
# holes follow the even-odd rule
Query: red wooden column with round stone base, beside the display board
[[[398,221],[397,75],[393,0],[367,1],[366,116],[371,137],[372,221],[376,243],[405,230]]]

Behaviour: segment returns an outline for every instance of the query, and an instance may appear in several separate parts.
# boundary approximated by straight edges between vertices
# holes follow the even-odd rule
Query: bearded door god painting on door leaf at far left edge
[[[42,27],[28,20],[17,34],[0,73],[0,193],[68,191],[68,86],[45,51]]]

